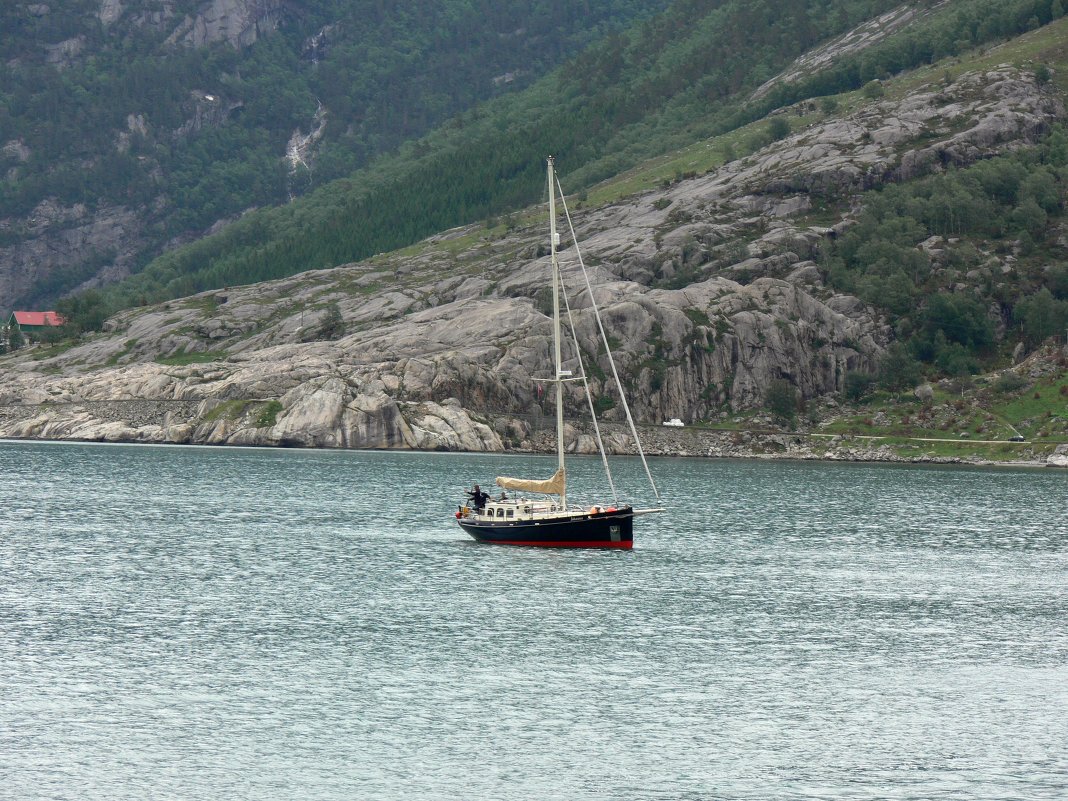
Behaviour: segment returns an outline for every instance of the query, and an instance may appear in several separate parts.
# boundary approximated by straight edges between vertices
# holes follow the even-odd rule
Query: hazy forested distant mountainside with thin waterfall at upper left
[[[154,207],[161,248],[347,175],[665,2],[302,0],[249,47],[168,42],[199,2],[127,2],[107,25],[98,0],[3,3],[0,220],[46,199]],[[318,109],[316,158],[293,172],[287,141]],[[19,235],[3,226],[0,246]],[[25,300],[54,299],[98,266]]]

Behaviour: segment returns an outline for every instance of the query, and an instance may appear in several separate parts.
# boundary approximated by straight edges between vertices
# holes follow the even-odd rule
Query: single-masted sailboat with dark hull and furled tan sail
[[[600,331],[601,344],[608,355],[609,363],[612,367],[612,375],[615,378],[616,388],[622,399],[622,407],[626,413],[627,422],[630,424],[630,433],[637,444],[638,453],[641,456],[642,465],[645,467],[645,474],[649,485],[659,503],[660,494],[657,491],[653,474],[649,472],[645,454],[642,451],[641,441],[638,437],[638,429],[634,426],[633,418],[630,414],[630,407],[627,405],[626,396],[623,393],[623,383],[615,368],[612,359],[612,350],[609,347],[608,336],[601,324],[600,312],[594,302],[593,287],[590,284],[590,277],[585,265],[582,262],[582,254],[578,250],[578,240],[575,236],[575,227],[571,225],[570,215],[567,213],[567,205],[564,193],[555,178],[555,167],[552,157],[548,159],[549,178],[549,251],[552,266],[552,335],[553,335],[553,365],[554,375],[547,379],[554,384],[556,402],[556,472],[549,478],[511,478],[498,476],[497,485],[501,487],[502,493],[498,500],[490,499],[488,494],[482,492],[478,485],[472,492],[468,492],[469,501],[460,504],[456,512],[456,521],[460,528],[480,543],[491,543],[496,545],[535,546],[543,548],[618,548],[630,549],[634,541],[634,518],[654,512],[663,512],[663,508],[634,508],[631,504],[619,503],[616,499],[615,485],[612,482],[612,473],[609,469],[608,458],[604,452],[603,440],[600,436],[600,428],[597,425],[597,417],[594,413],[593,397],[590,393],[585,371],[582,367],[581,355],[579,358],[579,375],[575,376],[571,371],[563,368],[562,358],[562,326],[561,326],[561,299],[567,310],[568,323],[572,340],[575,326],[571,321],[570,305],[564,292],[564,283],[561,277],[560,261],[556,251],[560,246],[560,234],[556,232],[556,193],[560,192],[560,201],[571,232],[571,239],[575,242],[575,250],[578,254],[579,266],[585,278],[586,289],[590,301],[597,319]],[[580,352],[578,347],[576,351]],[[567,468],[564,464],[564,383],[567,381],[581,380],[585,386],[586,400],[590,406],[590,413],[593,420],[597,446],[600,451],[604,473],[608,478],[612,501],[595,502],[587,504],[574,504],[568,502],[567,497]],[[511,491],[512,496],[506,493]]]

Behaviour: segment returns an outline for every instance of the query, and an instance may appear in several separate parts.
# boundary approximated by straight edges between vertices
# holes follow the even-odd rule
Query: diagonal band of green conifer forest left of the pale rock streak
[[[812,44],[893,5],[806,2],[787,14],[772,3],[673,4],[525,92],[455,117],[373,169],[164,256],[112,295],[109,305],[332,266],[525,205],[539,192],[537,164],[546,153],[559,154],[571,172],[600,161],[600,176],[610,175],[608,154],[621,147],[621,131],[629,127],[646,138],[642,125],[695,92],[704,93],[701,113],[707,115],[710,101],[755,87]],[[821,20],[831,27],[816,23]],[[657,146],[650,141],[646,150]]]

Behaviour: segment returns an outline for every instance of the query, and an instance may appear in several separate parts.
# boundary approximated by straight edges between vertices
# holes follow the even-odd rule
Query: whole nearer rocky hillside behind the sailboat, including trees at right
[[[968,355],[998,370],[1018,345],[1031,347],[1015,311],[1039,286],[1053,297],[1055,276],[1046,267],[1066,255],[1068,139],[1057,128],[1066,23],[883,81],[878,93],[783,109],[572,201],[640,419],[723,420],[764,406],[776,382],[810,409],[833,414],[851,397],[851,377],[878,375],[891,389],[911,389],[908,376],[895,387],[901,374],[886,367],[900,366],[889,357],[913,334],[959,355],[964,329],[954,323],[989,330],[990,343],[969,334],[975,349]],[[1012,64],[1036,53],[1052,80],[1033,63]],[[787,131],[763,143],[775,120]],[[755,150],[716,167],[724,152],[750,140]],[[1041,174],[1048,179],[1034,178]],[[971,194],[961,199],[954,182]],[[1042,191],[1048,182],[1053,194]],[[1009,221],[993,230],[924,217],[925,204],[951,189],[945,208],[987,197],[981,190],[1008,209]],[[593,205],[609,194],[618,200]],[[1050,210],[1042,208],[1045,222],[1028,246],[1023,233],[1032,221],[1016,219],[1016,210],[1040,200]],[[931,226],[940,224],[951,227],[937,234]],[[544,213],[529,211],[511,224],[458,229],[345,267],[129,310],[108,323],[108,333],[0,363],[9,371],[0,431],[536,446],[544,410],[532,376],[548,363],[544,227]],[[863,231],[870,235],[853,236]],[[879,258],[854,260],[852,249],[865,242],[885,244],[879,258],[889,269],[864,269]],[[841,286],[850,278],[890,279],[897,267],[915,268],[905,313],[891,313],[885,287],[873,286],[865,302]],[[574,288],[570,270],[567,280]],[[932,315],[936,297],[948,305]],[[996,298],[1005,305],[990,302]],[[597,403],[612,417],[615,402],[601,382],[606,365],[582,293],[572,305]],[[905,356],[913,366],[928,359],[918,366],[931,376],[940,370],[938,354]],[[1049,364],[1054,377],[1063,372],[1055,360]],[[1034,368],[1008,371],[1018,389]],[[124,403],[136,413],[119,408]],[[576,410],[581,398],[568,404]],[[939,404],[917,399],[910,413],[969,430],[986,425],[973,422],[971,408]],[[1054,415],[1042,430],[1048,441],[1068,437],[1068,419]],[[570,442],[587,445],[579,430]],[[615,438],[613,446],[629,445]]]

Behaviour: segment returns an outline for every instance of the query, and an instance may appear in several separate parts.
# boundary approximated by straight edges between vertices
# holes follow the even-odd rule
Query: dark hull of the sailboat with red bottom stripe
[[[633,546],[634,512],[576,513],[550,519],[509,522],[459,518],[457,522],[480,543],[536,548],[622,548]]]

